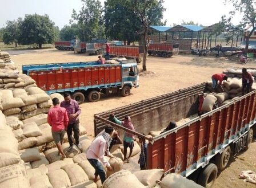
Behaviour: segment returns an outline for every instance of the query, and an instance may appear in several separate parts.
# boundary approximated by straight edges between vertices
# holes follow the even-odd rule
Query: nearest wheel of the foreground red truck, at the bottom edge
[[[217,178],[218,167],[212,163],[207,165],[198,176],[198,184],[210,188],[213,186],[215,179]]]

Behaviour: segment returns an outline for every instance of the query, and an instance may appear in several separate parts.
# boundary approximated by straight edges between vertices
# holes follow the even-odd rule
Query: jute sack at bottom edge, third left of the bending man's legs
[[[51,185],[54,188],[62,188],[62,187],[70,187],[71,186],[71,183],[70,183],[69,177],[67,176],[67,173],[62,169],[49,171],[47,176],[49,178]]]

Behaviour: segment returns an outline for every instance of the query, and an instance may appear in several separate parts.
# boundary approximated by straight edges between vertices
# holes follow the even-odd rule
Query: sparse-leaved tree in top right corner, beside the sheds
[[[245,28],[245,26],[251,26],[251,29],[246,32],[245,39],[245,53],[248,51],[249,39],[250,36],[256,29],[256,1],[255,0],[225,0],[225,3],[233,3],[234,10],[230,11],[230,17],[226,16],[222,17],[221,25],[222,28],[225,28],[227,32],[241,32],[241,27]],[[239,26],[234,27],[231,24],[231,19],[236,13],[240,13],[242,15],[242,21]]]

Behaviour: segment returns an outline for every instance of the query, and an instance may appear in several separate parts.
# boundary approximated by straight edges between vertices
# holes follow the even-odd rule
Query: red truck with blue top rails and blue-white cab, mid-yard
[[[134,60],[122,60],[117,64],[98,62],[49,63],[23,65],[22,72],[34,79],[47,94],[69,92],[82,104],[85,96],[98,101],[100,93],[110,95],[121,91],[130,95],[131,88],[139,87],[139,72]]]

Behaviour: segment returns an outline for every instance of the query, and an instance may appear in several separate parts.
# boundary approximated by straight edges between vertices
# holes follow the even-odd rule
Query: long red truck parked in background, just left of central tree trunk
[[[102,47],[102,56],[106,55],[106,45]],[[126,45],[111,45],[110,57],[123,57],[127,59],[135,59],[137,63],[141,63],[143,59],[143,46],[126,46]]]

